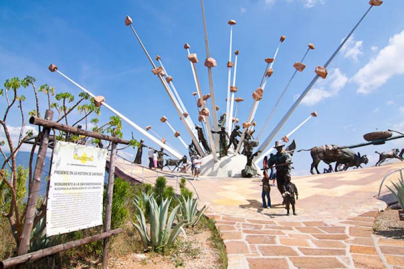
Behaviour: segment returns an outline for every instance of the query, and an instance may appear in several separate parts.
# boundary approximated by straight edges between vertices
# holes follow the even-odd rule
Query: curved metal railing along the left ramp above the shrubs
[[[128,160],[128,159],[126,159],[126,158],[124,158],[124,157],[122,157],[120,155],[117,155],[117,168],[119,170],[121,170],[122,173],[124,173],[125,175],[127,175],[127,176],[129,176],[131,178],[140,179],[140,181],[142,183],[147,182],[147,183],[150,183],[151,185],[154,185],[155,182],[150,180],[150,179],[157,179],[159,176],[164,176],[166,178],[166,181],[167,181],[168,185],[170,185],[172,187],[175,187],[175,191],[177,193],[179,193],[178,192],[178,185],[179,185],[178,184],[178,179],[179,178],[184,178],[192,186],[196,196],[199,199],[199,194],[196,191],[195,186],[192,184],[192,182],[190,181],[190,179],[187,176],[176,175],[176,174],[171,174],[171,173],[168,173],[168,172],[149,169],[148,167],[132,163],[130,160]],[[139,169],[141,169],[141,172],[140,173],[136,172]],[[147,174],[151,173],[151,174],[155,174],[155,175],[146,176],[145,172]]]

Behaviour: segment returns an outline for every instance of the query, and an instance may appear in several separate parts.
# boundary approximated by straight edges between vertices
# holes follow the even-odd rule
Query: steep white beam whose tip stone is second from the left
[[[153,66],[153,68],[156,68],[155,63],[153,62],[153,60],[151,60],[151,57],[150,57],[150,55],[148,54],[148,52],[147,52],[145,46],[143,45],[142,41],[140,40],[140,37],[139,37],[138,34],[136,33],[135,28],[133,28],[132,19],[130,19],[129,16],[126,17],[125,23],[126,23],[126,21],[127,21],[128,19],[130,20],[130,24],[127,24],[127,25],[129,25],[130,28],[132,29],[133,34],[136,36],[137,41],[139,41],[139,44],[140,44],[140,46],[142,47],[142,49],[143,49],[143,51],[144,51],[144,53],[145,53],[147,59],[149,60],[151,66]],[[171,89],[168,87],[168,84],[167,84],[166,80],[161,76],[161,74],[157,74],[157,76],[159,77],[161,83],[163,84],[164,89],[167,91],[167,93],[168,93],[168,95],[169,95],[171,101],[173,102],[174,107],[175,107],[175,109],[177,110],[177,113],[178,113],[178,115],[180,116],[181,121],[182,121],[182,123],[184,124],[186,131],[188,132],[189,136],[191,137],[193,143],[195,144],[196,150],[198,151],[198,153],[199,153],[201,156],[203,156],[203,155],[204,155],[204,151],[203,151],[202,148],[200,147],[200,145],[199,145],[197,139],[194,137],[194,135],[193,135],[193,133],[192,133],[192,130],[190,129],[189,125],[186,123],[185,117],[184,117],[184,115],[181,113],[179,104],[178,104],[178,102],[176,101],[176,99],[175,99],[175,97],[174,97],[174,94],[171,92]],[[181,157],[182,157],[182,156],[181,156]]]

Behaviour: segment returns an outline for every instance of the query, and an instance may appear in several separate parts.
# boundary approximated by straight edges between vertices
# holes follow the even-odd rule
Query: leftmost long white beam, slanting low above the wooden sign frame
[[[92,94],[91,92],[89,92],[87,89],[85,89],[83,86],[81,86],[80,84],[76,83],[74,80],[72,80],[71,78],[69,78],[68,76],[66,76],[65,74],[63,74],[62,72],[60,72],[59,70],[55,70],[56,72],[58,72],[62,77],[66,78],[67,80],[69,80],[70,82],[72,82],[74,85],[76,85],[78,88],[80,88],[82,91],[88,93],[90,96],[95,97],[94,94]],[[117,116],[119,116],[121,119],[123,119],[125,122],[127,122],[130,126],[132,126],[133,128],[135,128],[137,131],[139,131],[142,135],[144,135],[145,137],[147,137],[148,139],[150,139],[151,141],[155,142],[156,144],[158,144],[159,146],[161,146],[162,148],[166,149],[168,152],[170,152],[171,154],[173,154],[176,158],[181,159],[182,158],[182,154],[180,154],[177,150],[175,150],[174,148],[164,144],[162,141],[160,141],[159,139],[157,139],[156,137],[154,137],[153,135],[150,135],[149,133],[147,133],[147,131],[145,131],[143,128],[139,127],[137,124],[135,124],[134,122],[132,122],[131,120],[129,120],[128,118],[126,118],[123,114],[121,114],[120,112],[118,112],[117,110],[115,110],[112,106],[110,106],[108,103],[106,102],[102,102],[102,104],[107,107],[107,109],[109,109],[110,111],[112,111],[114,114],[116,114]]]

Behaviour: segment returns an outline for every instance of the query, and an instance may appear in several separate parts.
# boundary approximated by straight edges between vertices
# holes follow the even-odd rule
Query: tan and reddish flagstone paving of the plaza
[[[404,268],[404,241],[373,234],[375,219],[386,207],[374,195],[383,177],[402,167],[397,162],[292,177],[299,192],[297,216],[285,216],[276,187],[271,189],[272,208],[261,207],[260,178],[201,177],[192,184],[201,201],[210,206],[207,216],[216,220],[228,268],[392,269]],[[386,182],[395,179],[397,175]],[[176,177],[168,181],[176,186]],[[387,194],[383,189],[382,198]]]

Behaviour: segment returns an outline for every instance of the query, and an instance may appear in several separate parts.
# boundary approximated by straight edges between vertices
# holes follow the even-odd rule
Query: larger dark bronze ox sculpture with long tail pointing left
[[[366,155],[361,156],[361,153],[358,152],[356,154],[349,148],[341,149],[340,146],[336,145],[324,145],[320,147],[312,147],[311,149],[300,149],[300,151],[309,151],[313,158],[313,163],[310,169],[310,172],[314,175],[313,168],[316,169],[317,174],[320,174],[318,170],[318,165],[320,160],[322,160],[326,164],[331,164],[336,162],[335,170],[337,171],[337,167],[339,164],[345,165],[344,171],[347,170],[349,167],[361,167],[361,164],[368,164],[369,159]]]

